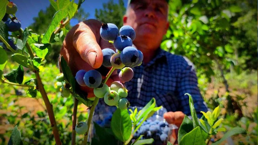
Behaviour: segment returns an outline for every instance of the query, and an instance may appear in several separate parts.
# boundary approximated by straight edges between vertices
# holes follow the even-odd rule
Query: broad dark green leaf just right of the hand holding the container
[[[181,139],[185,134],[193,130],[193,121],[185,115],[183,122],[178,130],[178,143],[180,144]]]

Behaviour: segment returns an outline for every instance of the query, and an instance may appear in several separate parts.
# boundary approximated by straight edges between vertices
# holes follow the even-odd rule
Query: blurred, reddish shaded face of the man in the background
[[[135,0],[130,4],[124,25],[136,32],[134,43],[150,43],[159,46],[169,27],[168,5],[165,0]]]

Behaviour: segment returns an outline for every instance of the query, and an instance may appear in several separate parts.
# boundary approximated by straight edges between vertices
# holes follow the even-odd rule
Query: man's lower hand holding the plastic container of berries
[[[180,127],[185,117],[185,114],[181,111],[167,112],[164,113],[163,117],[169,124],[175,124],[177,127]]]

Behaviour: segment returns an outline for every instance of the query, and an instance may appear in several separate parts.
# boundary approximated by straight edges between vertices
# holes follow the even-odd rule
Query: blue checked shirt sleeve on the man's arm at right
[[[191,115],[190,107],[189,107],[189,97],[185,95],[185,93],[189,93],[193,98],[194,108],[196,110],[197,116],[202,117],[202,113],[200,111],[208,111],[206,103],[204,102],[200,90],[198,88],[198,80],[193,69],[193,63],[189,63],[189,60],[185,60],[182,57],[182,63],[179,66],[179,82],[177,85],[177,93],[179,97],[180,111],[182,111],[186,115]]]

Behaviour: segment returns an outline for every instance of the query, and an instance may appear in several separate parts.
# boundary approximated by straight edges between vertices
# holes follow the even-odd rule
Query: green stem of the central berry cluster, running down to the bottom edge
[[[110,69],[110,71],[108,72],[105,80],[103,80],[103,84],[105,84],[108,80],[108,78],[111,76],[111,74],[114,72],[116,68],[112,67]],[[95,100],[93,101],[93,105],[91,106],[91,109],[90,109],[90,113],[89,113],[89,117],[88,117],[88,121],[87,121],[87,124],[88,124],[88,130],[87,132],[84,134],[84,139],[83,139],[83,145],[87,145],[87,142],[88,142],[88,136],[89,136],[89,129],[91,127],[91,119],[92,119],[92,116],[93,116],[93,112],[95,110],[95,107],[97,106],[97,104],[99,103],[99,98],[96,97]]]

